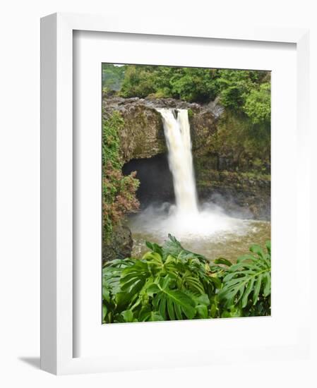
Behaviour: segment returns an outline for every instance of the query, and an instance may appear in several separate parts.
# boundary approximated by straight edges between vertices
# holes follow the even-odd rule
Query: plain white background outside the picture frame
[[[314,1],[10,1],[1,5],[0,61],[0,384],[32,387],[316,387],[316,358],[222,367],[54,377],[38,370],[40,352],[40,17],[55,11],[126,12],[142,23],[147,13],[189,23],[259,23],[311,28],[317,47]],[[258,6],[257,6],[258,4]],[[150,8],[151,7],[151,8]],[[117,14],[117,15],[118,15]],[[119,17],[119,16],[116,16]],[[311,68],[317,68],[316,51]],[[311,107],[317,107],[316,72]],[[311,109],[313,116],[316,109]],[[317,145],[316,133],[311,142]],[[313,163],[316,170],[316,152]],[[285,161],[287,163],[287,161]],[[316,174],[316,172],[315,172]],[[313,197],[316,195],[316,178]],[[313,208],[316,219],[316,207]],[[291,216],[291,214],[290,214]],[[290,217],[291,219],[291,217]],[[315,222],[313,221],[312,226]],[[316,235],[316,228],[313,229]],[[313,263],[316,271],[316,265]],[[303,271],[304,272],[304,271]],[[299,281],[302,274],[299,274]],[[294,285],[295,286],[295,285]],[[316,287],[312,292],[316,294]],[[316,298],[311,310],[316,311]],[[298,313],[296,307],[294,314]],[[313,316],[316,320],[316,313]],[[316,334],[313,345],[316,349]],[[315,353],[316,356],[316,353]],[[140,360],[140,363],[142,360]],[[36,368],[35,368],[36,367]]]

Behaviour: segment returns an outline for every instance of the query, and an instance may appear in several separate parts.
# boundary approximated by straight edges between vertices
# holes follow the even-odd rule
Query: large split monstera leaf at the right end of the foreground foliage
[[[249,301],[256,305],[259,296],[266,298],[270,295],[270,243],[266,244],[266,248],[267,253],[261,246],[252,245],[250,250],[253,255],[239,257],[237,264],[227,269],[218,295],[220,301],[225,301],[226,308],[237,303],[245,308]]]

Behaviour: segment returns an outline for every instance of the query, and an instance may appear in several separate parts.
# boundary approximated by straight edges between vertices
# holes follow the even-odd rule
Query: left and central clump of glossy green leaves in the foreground
[[[208,260],[169,236],[142,259],[107,262],[102,270],[104,322],[183,320],[208,317],[220,281]],[[124,311],[128,315],[122,315]]]

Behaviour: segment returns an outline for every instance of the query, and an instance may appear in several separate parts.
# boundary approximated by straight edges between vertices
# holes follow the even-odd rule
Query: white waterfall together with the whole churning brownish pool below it
[[[165,108],[157,111],[162,116],[176,205],[167,202],[150,205],[130,217],[133,254],[138,257],[145,252],[145,241],[163,243],[169,233],[190,250],[210,258],[221,252],[227,252],[227,257],[237,255],[240,242],[243,253],[252,241],[262,241],[259,236],[268,235],[268,223],[229,217],[213,202],[201,203],[198,210],[188,111]]]

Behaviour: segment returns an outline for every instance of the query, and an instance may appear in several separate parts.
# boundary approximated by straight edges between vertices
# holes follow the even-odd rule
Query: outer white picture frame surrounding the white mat
[[[228,356],[217,349],[217,356],[208,352],[201,358],[189,349],[189,354],[180,356],[169,351],[148,357],[144,363],[136,360],[100,355],[74,357],[73,289],[76,273],[73,269],[73,32],[113,32],[121,34],[157,35],[183,37],[195,42],[205,40],[232,40],[242,42],[277,42],[296,44],[297,56],[297,159],[301,167],[297,197],[305,206],[297,212],[297,244],[309,265],[309,32],[304,29],[287,28],[219,28],[166,23],[150,20],[148,25],[134,26],[133,20],[112,20],[107,16],[85,16],[58,13],[41,20],[41,368],[55,374],[79,372],[107,372],[113,370],[144,369],[205,364],[231,363],[237,354],[244,360],[252,359],[254,353],[241,344]],[[120,39],[120,37],[119,37]],[[274,106],[273,106],[274,108]],[[294,145],[295,147],[295,145]],[[305,171],[305,174],[302,174]],[[304,228],[304,229],[303,229]],[[299,253],[297,253],[299,255]],[[295,262],[298,264],[298,262]],[[291,275],[296,274],[294,266]],[[274,276],[274,275],[273,275]],[[309,284],[301,289],[301,303],[307,303]],[[203,321],[202,321],[203,322]],[[228,322],[228,320],[226,321]],[[234,320],[232,322],[237,322]],[[172,322],[183,325],[186,322]],[[133,324],[132,324],[133,325]],[[142,324],[143,325],[143,324]],[[206,321],[201,323],[206,328]],[[226,324],[228,325],[228,324]],[[237,324],[233,324],[237,325]],[[240,324],[241,325],[241,324]],[[123,327],[123,326],[121,326]],[[125,326],[128,329],[128,325]],[[152,326],[154,327],[154,326]],[[309,337],[303,335],[309,328],[306,315],[294,323],[298,335],[288,344],[258,346],[261,357],[303,357],[308,354]],[[203,329],[203,327],[202,327]],[[118,330],[120,330],[118,328]],[[155,330],[155,329],[154,329]],[[152,330],[153,331],[153,330]],[[109,352],[112,348],[109,348]],[[191,357],[191,353],[193,357]],[[145,353],[143,353],[144,356]],[[150,348],[149,348],[150,355]],[[208,357],[206,357],[208,355]],[[203,359],[203,361],[202,361]]]

